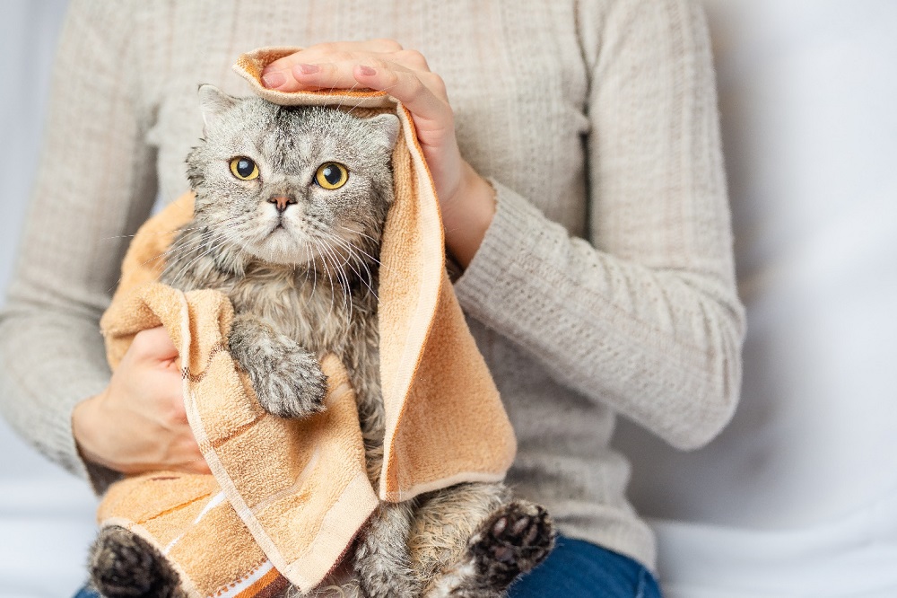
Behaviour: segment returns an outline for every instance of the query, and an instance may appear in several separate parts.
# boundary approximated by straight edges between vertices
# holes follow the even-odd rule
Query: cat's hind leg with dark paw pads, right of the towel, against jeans
[[[463,484],[422,505],[410,542],[415,568],[431,580],[426,598],[503,596],[514,578],[548,556],[548,513],[508,496],[501,484]]]

